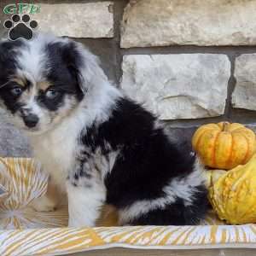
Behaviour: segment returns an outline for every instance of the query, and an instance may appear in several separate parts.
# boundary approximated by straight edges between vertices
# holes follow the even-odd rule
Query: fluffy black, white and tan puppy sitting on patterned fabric
[[[67,192],[69,226],[93,226],[104,203],[122,225],[198,224],[207,190],[195,155],[125,97],[96,56],[68,38],[0,43],[0,104],[49,172],[51,211]],[[54,189],[53,189],[54,188]]]

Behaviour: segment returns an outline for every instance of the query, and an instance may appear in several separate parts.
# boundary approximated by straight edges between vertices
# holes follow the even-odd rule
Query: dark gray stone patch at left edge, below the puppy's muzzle
[[[0,156],[20,156],[31,155],[30,147],[20,131],[10,125],[2,111],[0,111]]]

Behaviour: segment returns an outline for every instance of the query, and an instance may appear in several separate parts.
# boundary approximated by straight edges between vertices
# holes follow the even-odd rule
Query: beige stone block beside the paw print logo
[[[113,38],[113,2],[41,4],[39,31],[73,38]]]

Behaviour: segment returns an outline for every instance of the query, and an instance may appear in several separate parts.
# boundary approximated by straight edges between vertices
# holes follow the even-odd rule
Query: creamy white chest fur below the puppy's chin
[[[84,126],[82,120],[79,115],[77,118],[67,118],[55,130],[31,137],[35,158],[62,191],[65,191],[68,172],[72,170],[79,151],[78,139]]]

